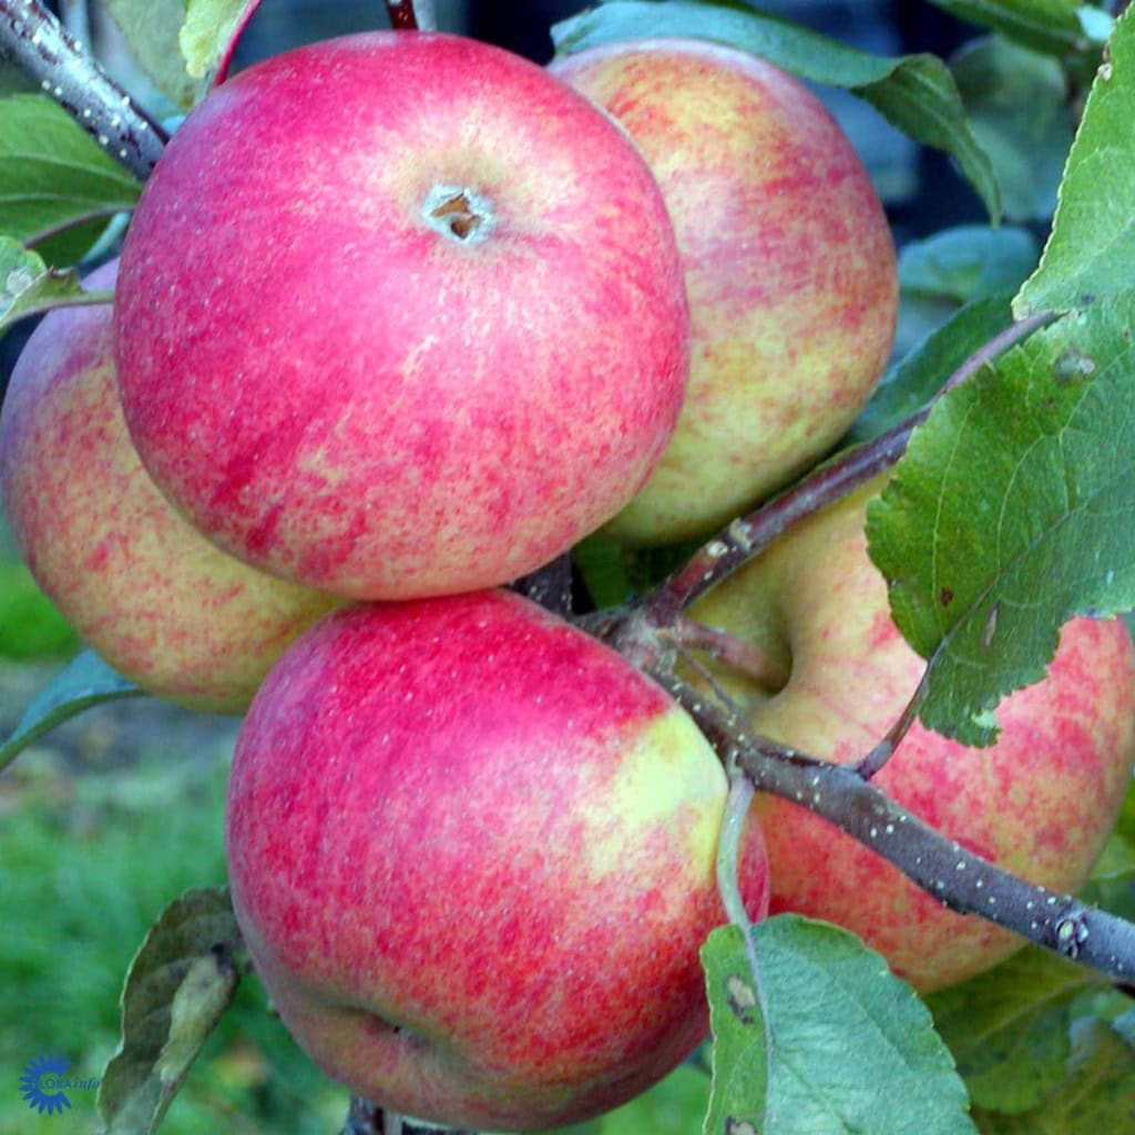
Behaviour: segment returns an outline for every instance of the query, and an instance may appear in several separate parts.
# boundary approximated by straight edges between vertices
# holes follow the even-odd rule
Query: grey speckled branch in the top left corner
[[[169,136],[39,0],[0,0],[0,49],[111,158],[150,176]]]

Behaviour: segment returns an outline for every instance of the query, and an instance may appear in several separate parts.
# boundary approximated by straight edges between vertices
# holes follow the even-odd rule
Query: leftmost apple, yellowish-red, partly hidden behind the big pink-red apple
[[[114,286],[116,263],[87,279]],[[0,493],[28,566],[78,633],[153,693],[244,709],[269,666],[339,603],[255,571],[167,503],[131,444],[110,305],[35,329],[0,413]]]

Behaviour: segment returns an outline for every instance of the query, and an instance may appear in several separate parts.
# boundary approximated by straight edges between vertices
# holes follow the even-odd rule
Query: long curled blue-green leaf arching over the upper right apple
[[[847,87],[910,137],[950,153],[990,216],[1000,215],[989,154],[969,129],[953,77],[935,56],[873,56],[777,16],[712,0],[617,0],[552,28],[556,50],[563,54],[622,40],[666,36],[724,43],[813,82]]]

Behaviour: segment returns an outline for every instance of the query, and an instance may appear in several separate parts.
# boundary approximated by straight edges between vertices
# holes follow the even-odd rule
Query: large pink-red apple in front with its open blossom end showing
[[[448,35],[331,40],[216,90],[138,203],[116,327],[177,507],[360,598],[566,550],[644,484],[689,371],[638,152],[543,68]]]

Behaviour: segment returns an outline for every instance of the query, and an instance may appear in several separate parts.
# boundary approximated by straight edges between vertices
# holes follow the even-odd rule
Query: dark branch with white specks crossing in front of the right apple
[[[821,760],[748,732],[735,712],[704,697],[667,665],[654,667],[651,675],[690,713],[725,766],[735,763],[757,791],[822,816],[951,910],[1015,931],[1119,983],[1132,982],[1135,924],[994,866],[901,808],[854,765]]]

